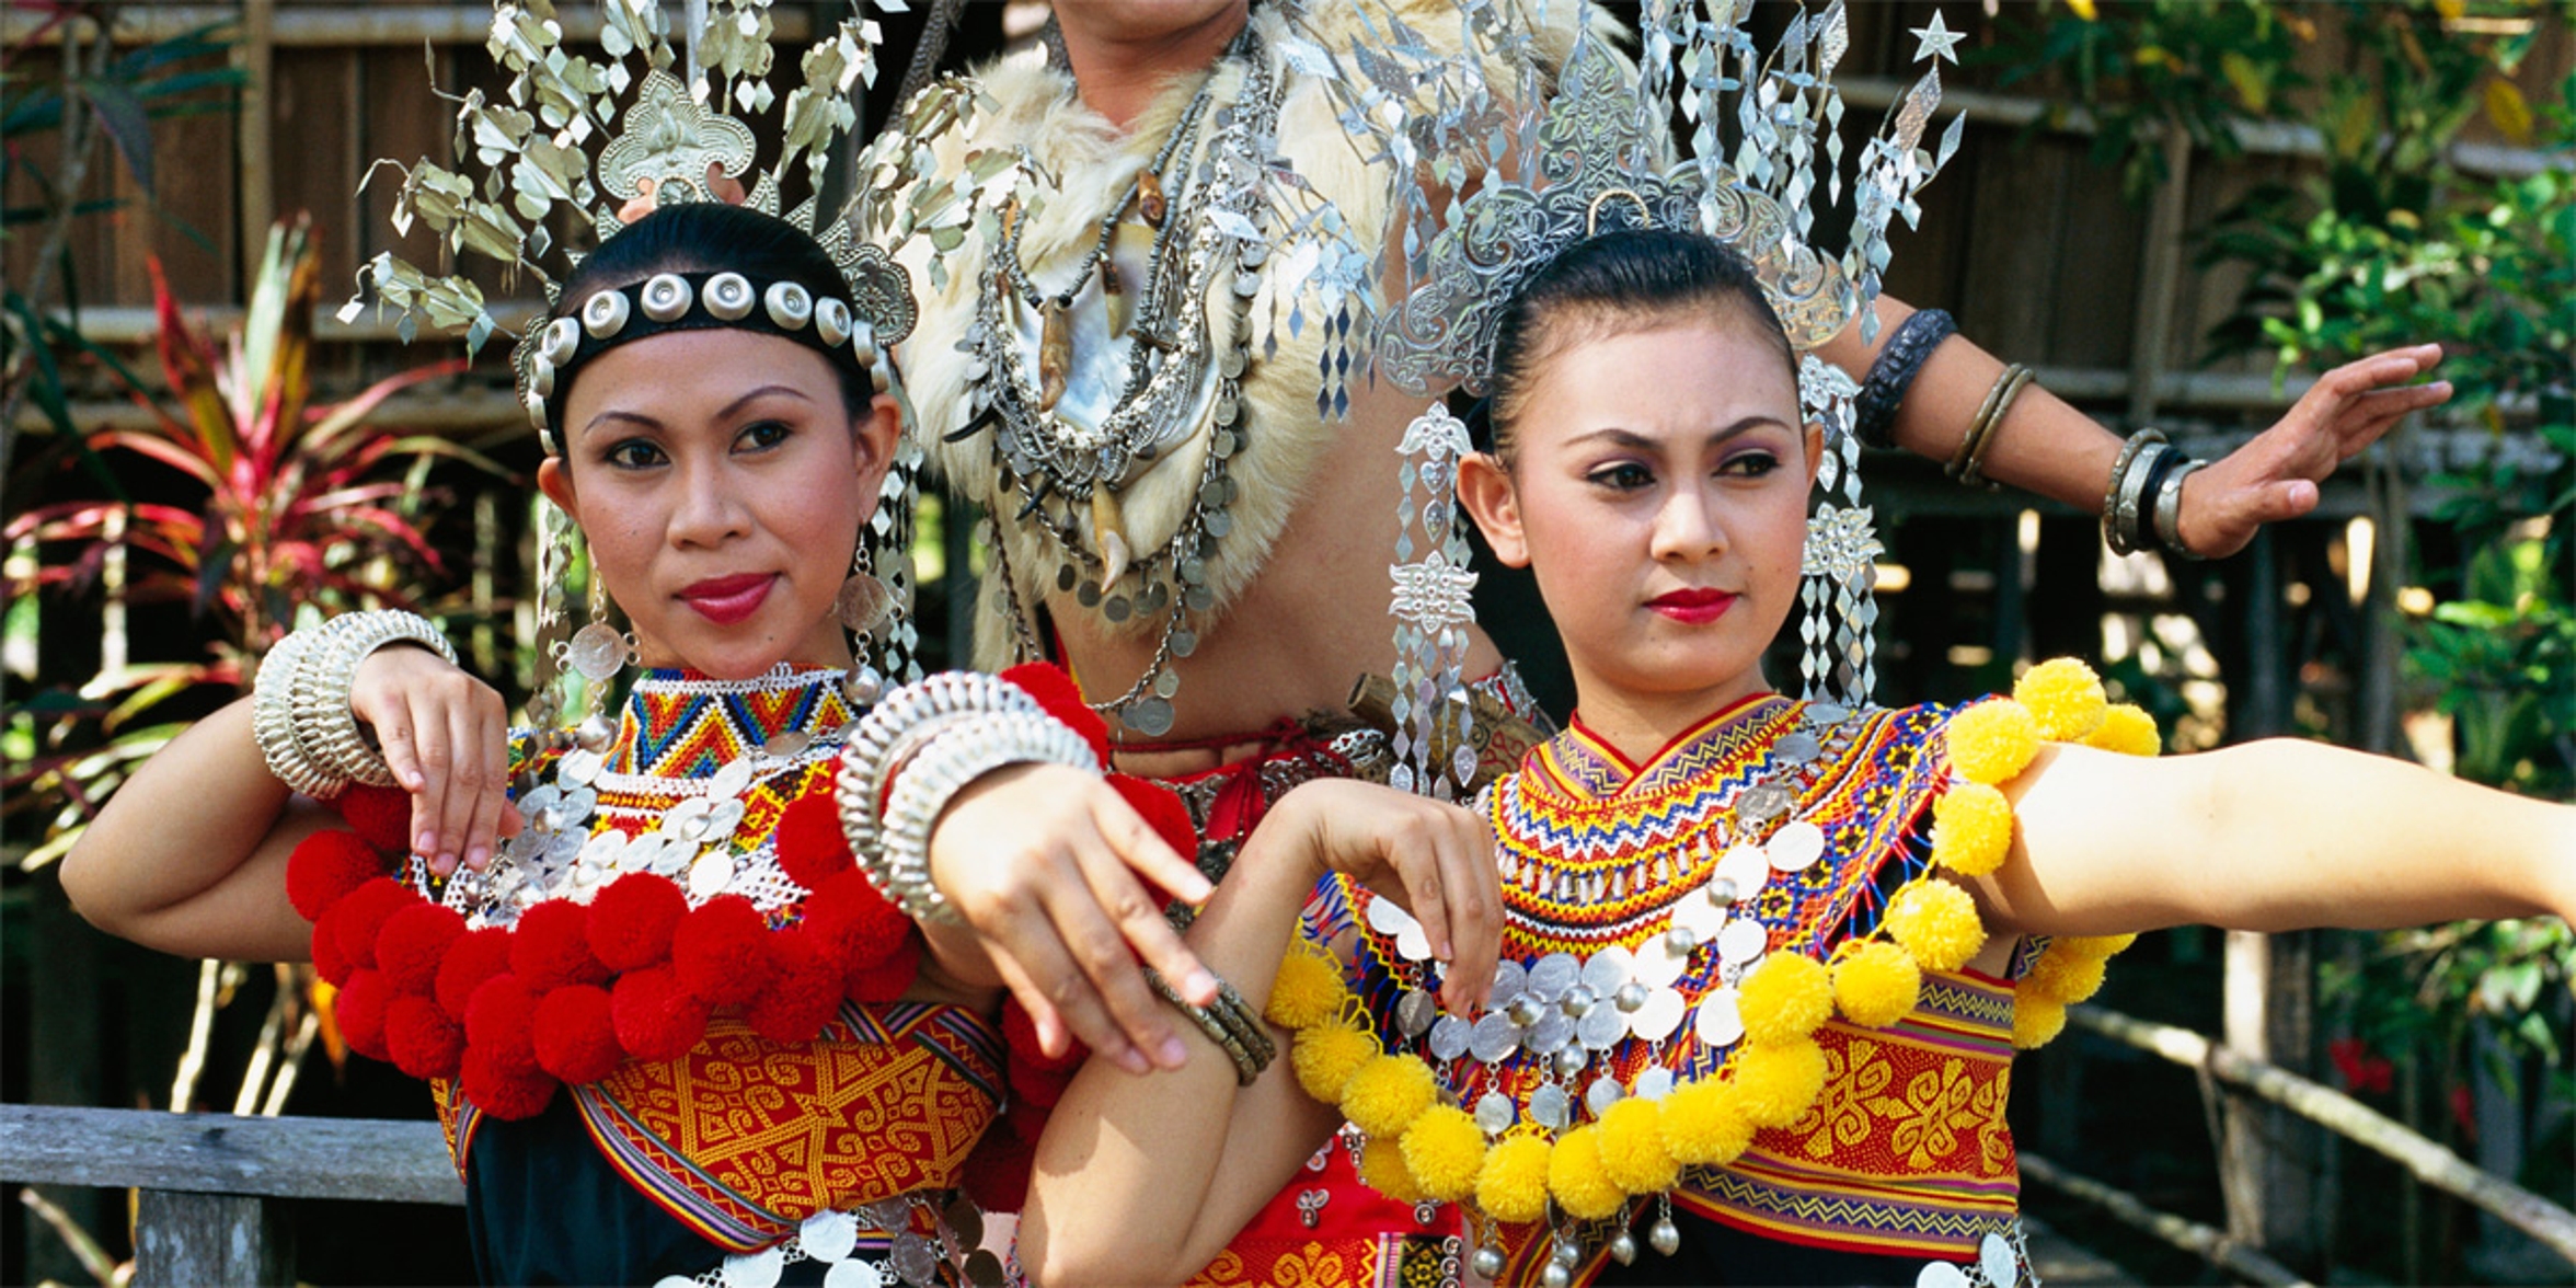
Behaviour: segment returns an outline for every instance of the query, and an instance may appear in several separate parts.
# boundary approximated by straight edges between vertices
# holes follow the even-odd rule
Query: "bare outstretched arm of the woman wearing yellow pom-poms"
[[[2012,858],[1973,881],[1994,933],[2576,914],[2576,806],[2321,742],[2169,760],[2050,744],[2004,791]]]

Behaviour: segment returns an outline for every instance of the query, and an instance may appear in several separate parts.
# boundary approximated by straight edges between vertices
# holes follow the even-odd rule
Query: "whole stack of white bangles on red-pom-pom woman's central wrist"
[[[1097,770],[1082,734],[1007,680],[940,672],[886,693],[840,752],[840,827],[878,894],[920,922],[956,922],[930,884],[930,827],[948,799],[1002,765]]]

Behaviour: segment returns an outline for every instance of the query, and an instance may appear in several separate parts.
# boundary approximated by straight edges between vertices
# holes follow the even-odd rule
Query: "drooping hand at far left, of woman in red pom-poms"
[[[412,853],[448,876],[492,863],[492,842],[520,829],[510,809],[510,708],[492,685],[410,644],[358,665],[348,708],[412,793]]]

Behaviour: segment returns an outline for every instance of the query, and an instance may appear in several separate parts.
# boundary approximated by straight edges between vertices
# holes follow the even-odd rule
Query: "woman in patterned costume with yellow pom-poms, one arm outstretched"
[[[1775,693],[1824,435],[1770,283],[1633,224],[1540,263],[1458,469],[1579,685],[1476,806],[1502,963],[1455,930],[1481,889],[1381,881],[1406,912],[1255,835],[1190,943],[1288,1059],[1077,1077],[1020,1229],[1041,1280],[1180,1278],[1347,1121],[1499,1283],[2030,1283],[2012,1054],[2136,933],[2576,912],[2576,809],[2311,742],[2136,760],[2154,724],[2076,662],[1965,706]],[[1311,791],[1283,814],[1352,806]]]

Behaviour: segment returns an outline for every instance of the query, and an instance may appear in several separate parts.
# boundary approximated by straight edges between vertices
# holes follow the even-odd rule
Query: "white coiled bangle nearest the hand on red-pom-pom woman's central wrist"
[[[930,829],[966,783],[1002,765],[1100,770],[1092,744],[1046,711],[989,714],[940,729],[902,765],[886,793],[876,850],[858,850],[868,881],[917,922],[958,922],[930,881]]]

